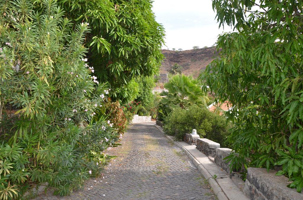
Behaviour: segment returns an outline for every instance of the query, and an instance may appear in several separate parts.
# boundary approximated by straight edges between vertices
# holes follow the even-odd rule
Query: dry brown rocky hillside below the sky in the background
[[[197,77],[201,70],[204,71],[206,66],[214,59],[218,53],[215,53],[215,47],[202,49],[192,49],[176,52],[173,50],[162,50],[165,56],[160,67],[160,73],[168,73],[171,66],[178,63],[183,67],[185,75]]]

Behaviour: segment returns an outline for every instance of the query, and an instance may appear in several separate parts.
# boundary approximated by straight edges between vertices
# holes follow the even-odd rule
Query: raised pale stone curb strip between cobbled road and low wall
[[[162,127],[156,124],[154,126],[162,134],[164,134]],[[188,158],[195,164],[201,175],[208,180],[215,195],[217,195],[219,200],[248,200],[248,197],[241,190],[238,189],[238,187],[231,181],[231,179],[225,173],[220,172],[221,170],[219,169],[219,167],[211,160],[209,160],[208,156],[196,150],[196,148],[186,148],[185,145],[189,146],[187,143],[182,144],[184,142],[176,142],[170,136],[165,134],[164,136],[185,152]],[[218,176],[216,179],[212,178],[215,174],[214,172]]]

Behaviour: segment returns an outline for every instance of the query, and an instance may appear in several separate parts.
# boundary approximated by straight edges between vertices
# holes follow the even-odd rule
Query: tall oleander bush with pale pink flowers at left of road
[[[0,2],[0,199],[42,183],[56,195],[80,189],[120,137],[96,119],[109,85],[86,63],[88,24],[63,18],[55,1],[40,11],[34,2]]]

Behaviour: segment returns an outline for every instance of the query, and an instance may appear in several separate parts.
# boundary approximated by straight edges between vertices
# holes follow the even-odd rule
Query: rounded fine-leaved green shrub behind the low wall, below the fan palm
[[[221,147],[229,147],[227,137],[230,135],[230,128],[231,124],[223,116],[212,113],[207,108],[192,105],[187,110],[174,109],[165,119],[163,130],[182,140],[185,133],[196,129],[201,138],[217,142]]]

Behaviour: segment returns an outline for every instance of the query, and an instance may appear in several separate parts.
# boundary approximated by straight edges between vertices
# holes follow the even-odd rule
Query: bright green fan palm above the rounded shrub
[[[169,82],[164,84],[168,90],[162,91],[162,111],[170,113],[174,108],[188,108],[190,105],[205,105],[209,101],[207,95],[202,91],[200,82],[185,75],[173,76]]]

